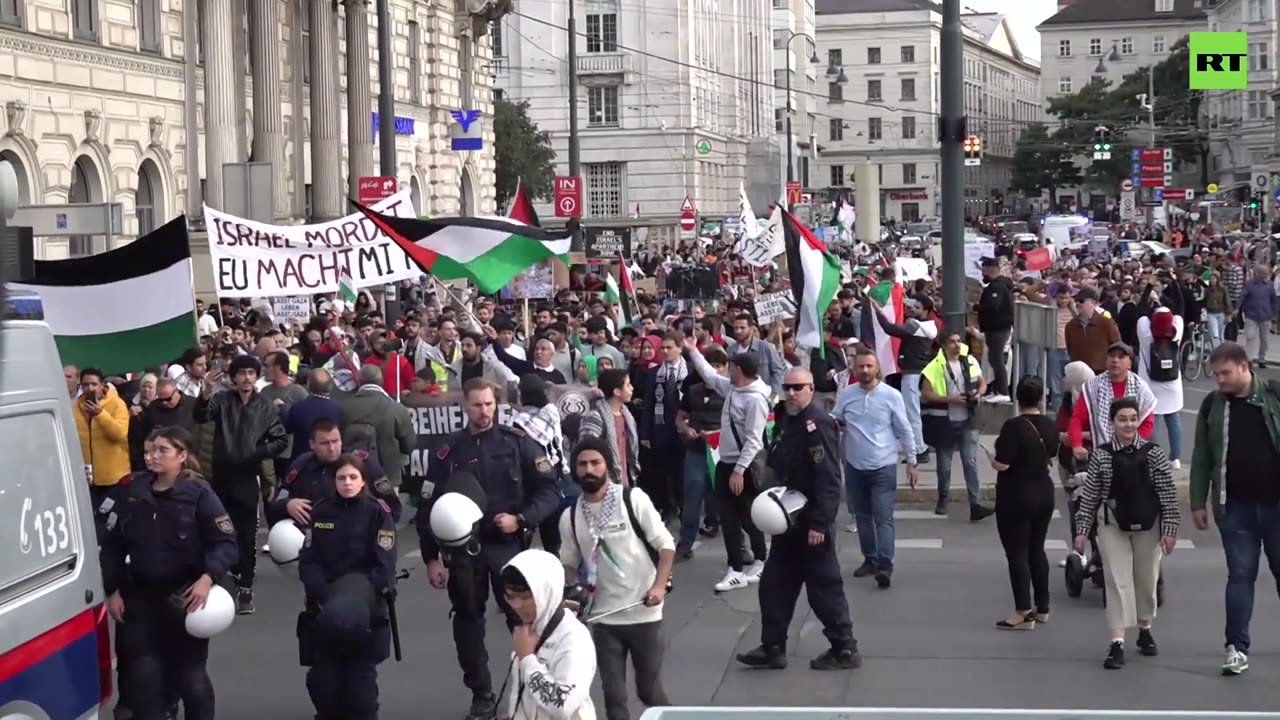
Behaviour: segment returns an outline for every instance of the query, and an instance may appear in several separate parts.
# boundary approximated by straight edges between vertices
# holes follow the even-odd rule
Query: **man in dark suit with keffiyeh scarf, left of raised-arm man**
[[[662,338],[662,363],[649,370],[648,392],[640,418],[640,445],[652,448],[652,468],[641,482],[666,520],[680,511],[684,498],[684,446],[676,428],[681,391],[689,377],[684,357],[685,334],[671,331]]]

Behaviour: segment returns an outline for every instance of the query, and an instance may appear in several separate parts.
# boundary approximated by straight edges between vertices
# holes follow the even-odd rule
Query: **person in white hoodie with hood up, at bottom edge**
[[[511,633],[506,717],[595,720],[591,633],[564,610],[564,570],[544,550],[526,550],[502,569],[507,602],[524,624]]]

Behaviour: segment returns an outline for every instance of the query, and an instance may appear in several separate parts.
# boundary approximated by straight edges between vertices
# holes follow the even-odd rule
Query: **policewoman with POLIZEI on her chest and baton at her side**
[[[378,717],[378,664],[390,656],[387,594],[396,582],[396,519],[356,455],[333,462],[334,487],[311,505],[298,555],[306,611],[298,621],[316,720]]]

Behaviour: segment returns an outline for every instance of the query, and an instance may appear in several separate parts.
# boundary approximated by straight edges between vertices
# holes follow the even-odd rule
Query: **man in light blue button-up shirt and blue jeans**
[[[887,588],[893,577],[899,445],[908,457],[913,489],[919,480],[915,459],[924,448],[915,447],[902,395],[881,382],[876,351],[859,347],[852,372],[858,383],[840,391],[833,415],[845,428],[845,491],[864,559],[854,577],[874,575],[876,583]]]

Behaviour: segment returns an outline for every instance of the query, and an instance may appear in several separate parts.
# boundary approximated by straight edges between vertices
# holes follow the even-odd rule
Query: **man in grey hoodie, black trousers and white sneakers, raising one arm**
[[[740,352],[728,360],[728,378],[721,377],[698,351],[698,341],[685,338],[685,350],[707,387],[724,398],[721,410],[719,462],[716,465],[716,495],[719,500],[721,527],[728,571],[716,584],[716,592],[736,591],[760,582],[768,552],[764,533],[751,524],[751,502],[760,493],[764,470],[764,429],[769,421],[772,389],[759,378],[754,352]],[[751,543],[755,560],[748,565],[742,532]]]

